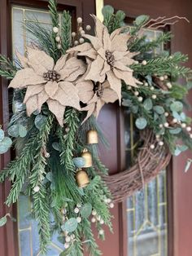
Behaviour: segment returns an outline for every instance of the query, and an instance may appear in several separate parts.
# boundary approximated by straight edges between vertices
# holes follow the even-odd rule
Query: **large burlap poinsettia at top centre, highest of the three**
[[[137,86],[141,82],[133,77],[133,70],[129,65],[134,63],[135,52],[128,51],[127,42],[130,38],[128,33],[121,33],[121,29],[116,29],[111,35],[107,27],[94,16],[95,37],[85,34],[84,38],[89,39],[79,46],[75,46],[68,52],[78,51],[78,55],[86,56],[88,69],[85,80],[94,82],[109,82],[111,89],[115,90],[121,99],[121,80],[129,86]]]

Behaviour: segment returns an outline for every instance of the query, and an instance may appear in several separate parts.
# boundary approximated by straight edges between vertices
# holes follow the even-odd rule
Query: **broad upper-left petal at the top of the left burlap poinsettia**
[[[28,65],[35,73],[43,74],[54,68],[54,60],[45,51],[35,50],[28,47]]]

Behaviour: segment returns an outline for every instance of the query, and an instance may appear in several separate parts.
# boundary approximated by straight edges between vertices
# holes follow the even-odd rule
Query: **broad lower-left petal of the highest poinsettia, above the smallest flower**
[[[101,76],[105,60],[98,55],[97,59],[90,64],[89,73],[86,75],[85,80],[93,80],[94,82],[104,82],[105,74]]]

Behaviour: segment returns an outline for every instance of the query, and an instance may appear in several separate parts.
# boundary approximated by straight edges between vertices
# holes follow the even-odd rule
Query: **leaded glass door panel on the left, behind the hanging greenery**
[[[61,15],[59,15],[61,20]],[[15,50],[24,54],[26,46],[35,38],[24,29],[24,23],[39,20],[45,28],[50,28],[50,15],[48,11],[12,7],[12,46]],[[37,222],[31,216],[32,202],[28,196],[20,195],[18,201],[18,240],[20,256],[40,256]],[[53,236],[47,256],[59,256],[63,252],[63,245],[57,240],[57,234]]]

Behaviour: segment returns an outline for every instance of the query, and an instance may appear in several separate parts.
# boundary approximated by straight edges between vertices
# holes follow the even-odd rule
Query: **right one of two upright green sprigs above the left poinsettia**
[[[71,23],[72,17],[69,11],[63,11],[63,22],[61,27],[62,53],[65,54],[71,45]]]

